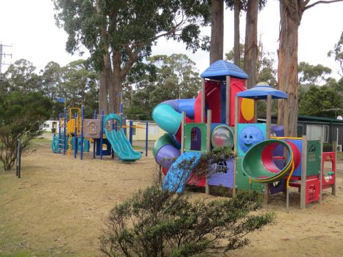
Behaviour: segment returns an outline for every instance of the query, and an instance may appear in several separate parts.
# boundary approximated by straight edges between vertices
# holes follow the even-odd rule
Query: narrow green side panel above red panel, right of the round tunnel
[[[318,175],[320,173],[320,141],[307,141],[306,175]]]

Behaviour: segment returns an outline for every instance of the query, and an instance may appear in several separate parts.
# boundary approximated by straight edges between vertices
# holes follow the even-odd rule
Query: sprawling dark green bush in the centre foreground
[[[193,256],[248,245],[246,235],[272,223],[272,213],[257,214],[257,193],[233,199],[189,201],[158,186],[138,191],[110,211],[100,236],[106,256]]]

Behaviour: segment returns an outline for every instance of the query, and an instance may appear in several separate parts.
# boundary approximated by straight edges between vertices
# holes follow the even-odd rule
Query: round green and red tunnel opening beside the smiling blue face
[[[282,149],[282,156],[275,153],[276,147]],[[294,165],[298,165],[298,148],[283,140],[265,140],[251,147],[242,162],[243,171],[257,182],[276,182]]]

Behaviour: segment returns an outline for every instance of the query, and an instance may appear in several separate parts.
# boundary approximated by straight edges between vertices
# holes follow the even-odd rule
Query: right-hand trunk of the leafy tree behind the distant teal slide
[[[121,97],[121,86],[123,79],[121,77],[121,56],[118,51],[113,53],[113,83],[110,86],[109,90],[109,111],[119,113],[120,112],[120,103]]]

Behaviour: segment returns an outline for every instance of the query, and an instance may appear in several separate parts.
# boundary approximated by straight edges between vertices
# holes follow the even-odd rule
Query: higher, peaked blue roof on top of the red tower
[[[248,75],[240,69],[239,66],[224,60],[213,62],[213,64],[200,75],[200,77],[217,80],[225,80],[226,76],[248,79]]]

